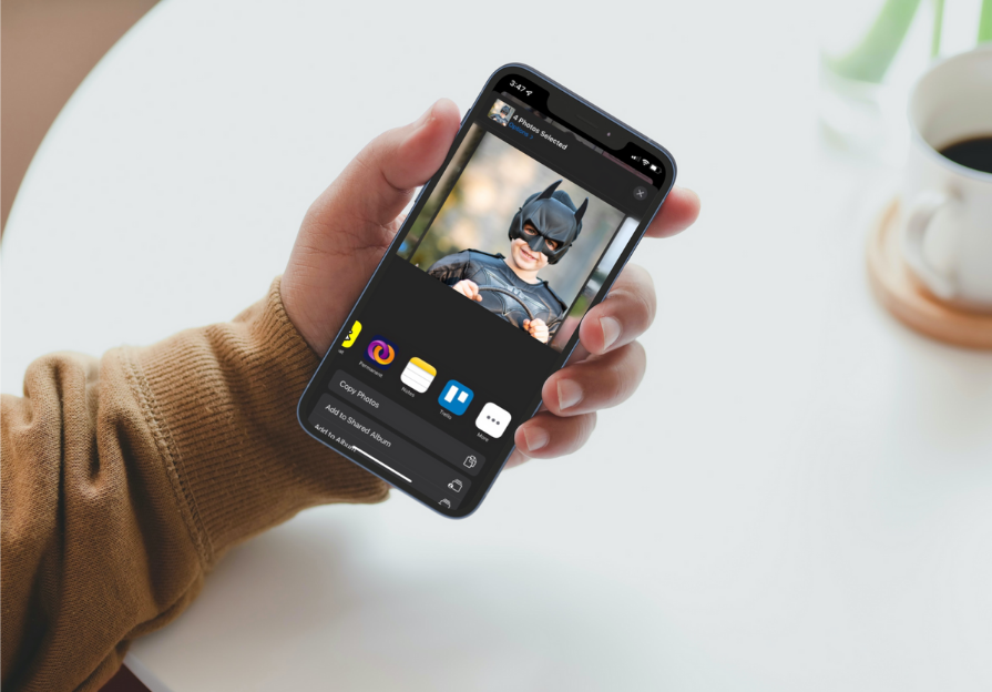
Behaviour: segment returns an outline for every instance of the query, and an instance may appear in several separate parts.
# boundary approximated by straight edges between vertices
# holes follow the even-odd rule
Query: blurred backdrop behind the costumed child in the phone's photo
[[[561,262],[540,273],[571,306],[620,227],[623,213],[478,125],[466,135],[446,176],[425,203],[399,256],[423,271],[463,250],[509,256],[513,215],[528,197],[555,181],[562,181],[558,190],[569,193],[576,208],[589,199],[575,243]]]

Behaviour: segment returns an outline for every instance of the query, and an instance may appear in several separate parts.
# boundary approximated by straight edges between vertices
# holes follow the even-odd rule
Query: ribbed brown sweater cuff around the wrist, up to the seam
[[[129,349],[137,396],[205,566],[325,502],[376,502],[388,486],[310,438],[296,405],[318,358],[276,278],[233,322]]]

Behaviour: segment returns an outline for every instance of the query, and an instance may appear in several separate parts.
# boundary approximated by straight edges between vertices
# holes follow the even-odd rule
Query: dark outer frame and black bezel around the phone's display
[[[370,291],[375,291],[377,284],[379,283],[378,279],[380,277],[380,274],[381,274],[383,264],[386,263],[386,260],[388,257],[390,257],[390,255],[397,250],[397,247],[399,246],[399,244],[402,242],[403,237],[406,236],[407,232],[409,231],[409,226],[412,225],[412,223],[416,221],[418,214],[420,213],[422,205],[430,197],[431,192],[433,191],[433,189],[437,186],[437,184],[439,182],[441,173],[444,172],[444,170],[448,167],[449,163],[451,162],[451,159],[454,156],[454,153],[458,151],[458,147],[461,144],[462,140],[464,139],[466,134],[468,133],[469,126],[472,124],[472,122],[474,120],[474,115],[479,112],[479,109],[488,109],[487,104],[489,102],[490,96],[492,95],[492,92],[495,90],[497,85],[505,77],[509,77],[509,75],[525,77],[525,79],[528,79],[530,82],[546,90],[546,92],[550,94],[549,100],[553,99],[556,104],[560,104],[562,106],[562,110],[564,112],[570,113],[570,114],[575,114],[579,112],[584,112],[586,114],[593,114],[596,118],[596,120],[600,122],[599,126],[596,126],[596,125],[575,126],[574,123],[567,122],[567,118],[562,118],[561,115],[558,115],[556,112],[551,113],[551,114],[554,114],[556,119],[561,119],[563,122],[565,122],[574,131],[576,131],[583,135],[586,135],[594,141],[599,141],[601,143],[606,141],[606,140],[604,140],[604,136],[603,136],[606,131],[610,131],[611,133],[616,133],[616,135],[617,135],[616,140],[612,140],[613,135],[611,134],[611,141],[615,141],[618,144],[620,143],[623,143],[623,144],[633,143],[634,145],[641,147],[642,150],[648,152],[650,154],[653,154],[654,157],[659,160],[662,162],[662,164],[664,165],[664,167],[666,169],[665,176],[658,187],[658,192],[655,194],[654,199],[648,203],[648,206],[646,208],[644,217],[641,220],[641,223],[638,224],[636,231],[634,232],[633,236],[628,241],[627,246],[624,248],[623,253],[621,253],[620,258],[617,260],[613,269],[606,276],[606,279],[603,282],[603,286],[601,287],[600,292],[596,294],[595,298],[590,304],[589,309],[592,309],[592,307],[600,304],[606,297],[606,295],[609,294],[610,289],[612,288],[612,286],[614,284],[614,282],[616,281],[616,277],[620,275],[620,273],[623,271],[623,267],[630,261],[631,256],[633,255],[633,253],[636,250],[637,245],[640,244],[641,240],[644,237],[644,233],[646,232],[648,225],[654,220],[655,215],[657,214],[658,210],[661,208],[662,204],[664,203],[665,199],[667,197],[668,192],[671,192],[672,186],[675,183],[675,176],[676,176],[675,160],[672,157],[672,155],[668,153],[667,150],[665,150],[663,146],[661,146],[656,142],[652,141],[651,139],[644,136],[643,134],[641,134],[633,128],[630,128],[628,125],[624,124],[620,120],[613,118],[605,111],[589,103],[587,101],[585,101],[577,94],[573,93],[572,91],[570,91],[566,88],[559,84],[558,82],[555,82],[555,81],[551,80],[550,78],[545,77],[544,74],[538,72],[533,68],[530,68],[530,67],[528,67],[525,64],[521,64],[521,63],[505,64],[492,73],[492,75],[485,82],[482,90],[479,92],[479,95],[475,98],[474,102],[472,103],[472,106],[466,112],[466,115],[461,121],[461,125],[459,128],[458,133],[456,134],[456,138],[451,145],[451,149],[448,151],[448,154],[444,157],[444,162],[438,169],[438,172],[421,189],[420,194],[418,195],[417,200],[415,201],[410,213],[407,215],[407,218],[403,221],[403,224],[400,226],[399,231],[397,232],[397,234],[393,237],[392,242],[390,243],[389,247],[382,254],[382,258],[379,261],[379,264],[376,266],[376,271],[372,273],[372,276],[369,278],[369,282],[366,284],[365,288],[362,288],[361,294],[356,299],[355,305],[351,306],[351,309],[348,313],[348,317],[341,324],[341,327],[340,327],[338,334],[335,336],[335,339],[331,342],[331,345],[328,348],[327,353],[325,353],[324,356],[321,357],[320,364],[317,366],[317,369],[314,372],[314,375],[310,377],[310,380],[307,383],[307,386],[304,389],[304,393],[299,398],[299,403],[297,404],[297,409],[296,409],[297,420],[299,421],[300,426],[303,427],[303,429],[306,431],[307,435],[309,435],[314,439],[318,440],[320,444],[325,445],[326,447],[334,449],[334,451],[341,455],[349,461],[357,464],[361,468],[368,470],[370,474],[381,478],[382,480],[389,482],[390,485],[392,485],[392,482],[390,481],[389,478],[386,478],[385,476],[380,475],[377,470],[369,468],[368,466],[366,466],[366,464],[362,464],[361,461],[354,458],[352,456],[349,456],[348,454],[346,454],[346,450],[340,449],[338,447],[333,447],[331,445],[329,445],[327,442],[327,440],[315,435],[309,429],[310,426],[306,421],[305,411],[309,410],[310,408],[313,408],[316,405],[316,400],[318,399],[320,391],[319,391],[319,387],[315,387],[315,383],[318,379],[320,379],[319,375],[324,372],[325,364],[326,364],[327,359],[329,357],[331,357],[331,355],[335,353],[336,346],[338,344],[340,344],[342,338],[346,336],[348,329],[350,329],[350,325],[352,324],[352,322],[355,319],[355,312],[357,311],[358,306],[361,305],[362,299],[365,298],[366,294],[368,294]],[[585,120],[586,123],[590,123],[590,125],[592,124],[587,119],[583,119],[583,120]],[[584,317],[583,317],[583,319],[584,319]],[[576,328],[575,333],[572,335],[569,343],[565,345],[565,347],[559,354],[559,357],[553,362],[552,366],[549,368],[546,375],[544,376],[544,379],[546,379],[552,374],[554,374],[555,372],[561,369],[567,363],[569,358],[571,357],[571,355],[574,352],[577,344],[579,344],[579,329]],[[541,406],[541,386],[542,385],[543,385],[543,380],[540,384],[535,385],[536,395],[535,395],[534,399],[531,401],[531,404],[526,407],[526,410],[531,411],[530,416],[533,416],[534,414],[536,414],[538,409]],[[450,519],[463,519],[463,518],[472,515],[482,505],[482,501],[489,495],[490,489],[492,488],[493,484],[495,484],[495,480],[499,478],[500,474],[503,470],[503,467],[505,466],[510,456],[513,454],[514,449],[515,449],[515,446],[512,444],[512,435],[511,435],[510,444],[507,447],[505,455],[503,455],[502,458],[500,458],[500,459],[494,459],[494,461],[498,465],[498,468],[497,468],[495,472],[492,475],[489,482],[482,488],[481,492],[475,492],[471,499],[466,498],[466,501],[462,502],[461,505],[459,505],[456,510],[442,511],[438,507],[434,507],[433,503],[425,501],[417,495],[415,495],[412,492],[408,492],[403,488],[398,488],[398,489],[400,491],[402,491],[405,495],[408,495],[409,497],[419,501],[425,507],[428,507],[429,509],[436,511],[437,513],[439,513],[443,517],[448,517]],[[396,487],[396,486],[393,486],[393,487]]]

